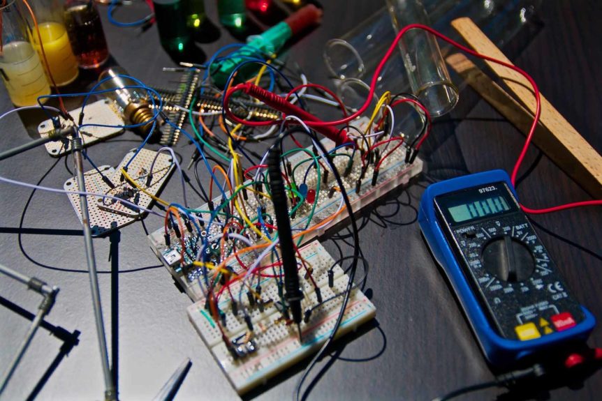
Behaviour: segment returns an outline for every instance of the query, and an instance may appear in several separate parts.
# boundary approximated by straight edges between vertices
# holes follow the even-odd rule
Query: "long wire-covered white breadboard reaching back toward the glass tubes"
[[[321,142],[327,150],[335,148],[334,142],[330,141],[330,139],[325,138]],[[306,150],[311,152],[309,148]],[[337,170],[341,172],[342,181],[354,213],[357,213],[360,209],[397,186],[408,183],[411,177],[416,176],[423,169],[423,162],[418,158],[411,164],[406,163],[406,149],[404,146],[399,146],[388,158],[383,160],[379,175],[373,185],[374,163],[367,165],[365,173],[362,174],[362,162],[359,153],[356,152],[352,157],[352,149],[339,148],[336,151],[336,154],[339,156],[332,157],[332,162],[337,167]],[[298,240],[300,241],[300,245],[321,236],[328,227],[332,227],[332,225],[344,220],[348,216],[346,211],[337,214],[342,207],[342,197],[335,195],[340,192],[337,190],[338,186],[334,174],[332,172],[326,174],[324,173],[326,170],[323,170],[324,172],[318,180],[318,169],[311,167],[311,160],[302,149],[288,158],[290,165],[309,167],[293,169],[289,174],[294,177],[291,181],[304,183],[307,187],[307,202],[301,202],[301,204],[295,205],[295,208],[291,208],[291,210],[295,209],[295,212],[291,213],[293,234],[303,229],[316,228]],[[226,192],[226,194],[228,193]],[[251,193],[249,191],[247,200],[244,203],[244,209],[248,211],[250,218],[257,220],[260,215],[274,215],[272,203],[270,201],[265,202],[260,197],[254,196],[254,194],[255,192]],[[214,204],[220,204],[220,202],[222,202],[221,197],[214,198]],[[212,207],[207,204],[200,206],[199,210],[206,211],[206,213],[200,213],[205,220],[210,215]],[[265,210],[265,213],[262,210]],[[240,217],[234,208],[231,208],[229,213]],[[259,220],[262,219],[259,218]],[[267,222],[270,225],[272,224],[269,218]],[[256,235],[256,232],[251,232],[250,230],[247,230],[247,232],[249,232],[251,241],[263,241],[263,239]],[[223,255],[219,255],[219,240],[215,239],[220,234],[221,226],[214,221],[209,232],[203,227],[203,231],[200,234],[190,231],[182,234],[184,236],[182,239],[177,237],[174,230],[169,230],[169,245],[166,244],[164,229],[158,229],[149,235],[151,248],[193,301],[198,301],[203,297],[203,292],[197,280],[200,275],[200,269],[182,268],[182,255],[184,255],[184,265],[190,265],[194,260],[193,255],[197,255],[200,247],[203,246],[202,244],[205,241],[209,241],[210,245],[207,247],[207,253],[211,253],[210,256],[214,262],[219,262]],[[184,249],[182,249],[182,243],[184,244]]]

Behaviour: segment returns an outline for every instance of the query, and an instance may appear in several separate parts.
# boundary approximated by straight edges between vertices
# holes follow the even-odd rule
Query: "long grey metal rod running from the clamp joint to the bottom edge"
[[[82,163],[82,139],[73,137],[72,140],[73,160],[75,161],[75,173],[80,190],[85,190],[84,169]],[[101,351],[101,362],[103,365],[103,376],[105,379],[105,400],[117,400],[115,384],[109,368],[107,351],[107,340],[105,337],[105,324],[103,321],[103,310],[101,305],[101,292],[98,289],[98,275],[96,273],[96,259],[94,258],[94,247],[92,246],[92,232],[90,229],[88,201],[86,195],[80,195],[80,209],[82,211],[82,225],[84,226],[84,243],[88,273],[90,277],[90,289],[92,293],[92,304],[94,305],[94,317],[96,320],[96,334],[98,335],[98,347]]]

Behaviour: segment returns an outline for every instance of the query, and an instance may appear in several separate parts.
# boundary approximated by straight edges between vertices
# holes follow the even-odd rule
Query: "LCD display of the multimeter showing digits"
[[[456,224],[517,211],[517,206],[504,183],[439,196],[436,197],[436,203],[448,221]]]

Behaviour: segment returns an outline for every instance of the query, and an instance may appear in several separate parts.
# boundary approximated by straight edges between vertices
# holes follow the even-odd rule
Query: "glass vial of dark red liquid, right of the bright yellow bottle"
[[[109,58],[101,16],[94,0],[66,0],[65,27],[81,68],[102,66]]]

